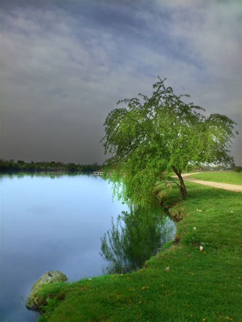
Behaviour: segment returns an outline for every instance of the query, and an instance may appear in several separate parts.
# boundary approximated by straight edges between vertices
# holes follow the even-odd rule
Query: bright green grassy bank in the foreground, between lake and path
[[[182,218],[176,243],[137,272],[45,286],[39,322],[241,321],[241,194],[186,186],[188,198],[170,208]],[[168,190],[164,206],[178,198]]]

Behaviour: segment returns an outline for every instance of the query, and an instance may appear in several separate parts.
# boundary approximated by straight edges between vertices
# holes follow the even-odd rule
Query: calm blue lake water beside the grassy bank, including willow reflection
[[[112,201],[110,184],[98,176],[2,175],[0,184],[1,322],[36,321],[23,300],[46,271],[59,270],[73,281],[118,271],[119,264],[135,269],[174,234],[167,218],[137,222],[134,213],[144,211]],[[122,240],[112,239],[115,229],[123,231]],[[108,257],[110,242],[116,253]]]

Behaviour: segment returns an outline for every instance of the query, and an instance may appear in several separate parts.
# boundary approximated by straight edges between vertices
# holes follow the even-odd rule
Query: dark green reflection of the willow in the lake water
[[[108,273],[137,270],[175,234],[174,223],[157,205],[153,208],[131,206],[101,238],[101,255],[110,262]]]

